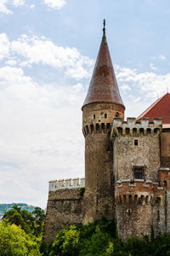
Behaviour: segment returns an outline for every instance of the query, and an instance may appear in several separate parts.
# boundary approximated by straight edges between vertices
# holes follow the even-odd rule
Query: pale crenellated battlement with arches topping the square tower
[[[135,118],[127,118],[123,121],[122,118],[114,118],[111,128],[111,139],[120,136],[143,137],[148,135],[158,136],[161,132],[162,120],[142,118],[137,121]]]

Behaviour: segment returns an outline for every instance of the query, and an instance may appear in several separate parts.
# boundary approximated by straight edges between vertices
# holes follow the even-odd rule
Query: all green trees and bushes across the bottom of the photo
[[[170,256],[170,235],[154,238],[130,238],[126,242],[117,236],[116,224],[105,218],[92,224],[71,226],[56,234],[54,242],[42,242],[44,212],[12,207],[0,223],[0,256]]]

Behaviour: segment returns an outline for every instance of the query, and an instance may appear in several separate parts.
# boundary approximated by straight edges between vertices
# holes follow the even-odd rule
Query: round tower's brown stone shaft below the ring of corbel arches
[[[95,218],[113,218],[112,151],[107,134],[86,137],[86,190],[83,199],[83,222]]]

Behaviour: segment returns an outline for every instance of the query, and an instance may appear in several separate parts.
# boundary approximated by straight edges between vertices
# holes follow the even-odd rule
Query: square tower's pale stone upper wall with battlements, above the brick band
[[[114,119],[111,139],[114,143],[115,180],[134,180],[133,168],[144,167],[144,180],[157,181],[160,168],[161,120],[149,123],[148,119]],[[137,144],[135,145],[135,142]]]

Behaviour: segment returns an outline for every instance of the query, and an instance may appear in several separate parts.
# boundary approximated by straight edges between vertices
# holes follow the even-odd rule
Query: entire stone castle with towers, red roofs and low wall
[[[170,232],[170,94],[138,119],[125,106],[105,37],[82,105],[85,178],[49,182],[44,241],[71,224],[116,218],[122,240]],[[85,193],[82,189],[85,186]]]

